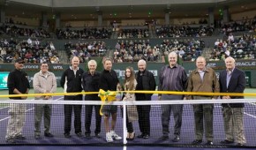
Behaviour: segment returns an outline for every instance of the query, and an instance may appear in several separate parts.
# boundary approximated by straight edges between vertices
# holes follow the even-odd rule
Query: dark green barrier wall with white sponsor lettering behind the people
[[[158,73],[162,68],[162,63],[147,63],[147,70],[153,72],[156,84],[158,84]],[[189,73],[196,68],[195,62],[184,62],[182,63],[185,71]],[[66,70],[70,64],[49,64],[49,71],[54,72],[56,75],[57,86],[60,86],[60,79],[64,70]],[[132,66],[134,71],[138,71],[137,63],[122,63],[122,64],[113,64],[113,70],[117,71],[117,76],[120,79],[120,82],[123,83],[124,80],[124,71],[127,66]],[[225,70],[225,64],[223,61],[218,62],[207,62],[208,67],[215,69],[217,75],[222,70]],[[256,60],[244,60],[237,61],[237,68],[245,71],[246,74],[246,85],[250,87],[256,87]],[[79,67],[87,70],[87,64],[79,64]],[[102,64],[98,62],[99,71],[102,71]],[[0,71],[12,71],[14,69],[13,64],[0,64]],[[24,71],[26,71],[30,85],[33,84],[34,73],[40,71],[40,64],[25,64]]]

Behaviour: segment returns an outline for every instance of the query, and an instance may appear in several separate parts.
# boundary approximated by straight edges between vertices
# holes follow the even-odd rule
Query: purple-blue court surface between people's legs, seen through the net
[[[154,95],[154,99],[156,96]],[[245,104],[245,137],[247,139],[247,146],[255,146],[255,138],[254,135],[256,135],[256,130],[253,126],[256,124],[256,105],[253,103],[246,103]],[[8,120],[8,109],[1,109],[0,110],[0,132],[5,133],[6,131],[6,125]],[[34,139],[34,108],[33,106],[27,107],[27,116],[26,116],[26,125],[24,128],[24,135],[26,136],[26,140],[23,140],[18,145],[13,146],[7,146],[4,145],[4,134],[0,136],[0,150],[29,150],[29,149],[35,149],[35,150],[134,150],[134,149],[141,149],[141,150],[167,150],[167,149],[178,149],[178,150],[194,150],[194,149],[220,149],[223,148],[223,146],[220,145],[220,141],[224,139],[224,131],[223,131],[223,125],[222,125],[222,113],[221,113],[221,107],[219,105],[215,106],[215,118],[214,118],[214,133],[215,133],[215,147],[206,147],[206,146],[188,146],[194,139],[194,132],[193,132],[193,115],[192,115],[192,107],[191,105],[185,105],[184,106],[184,113],[183,113],[183,125],[182,125],[182,132],[181,132],[181,144],[184,144],[184,146],[178,146],[175,143],[171,143],[170,140],[168,141],[159,141],[159,137],[162,136],[162,125],[161,125],[161,108],[153,107],[151,109],[151,131],[152,136],[150,139],[144,140],[144,139],[134,139],[133,141],[130,141],[127,143],[127,146],[123,146],[123,140],[119,140],[115,142],[115,146],[104,146],[106,145],[106,141],[103,138],[105,133],[102,129],[102,139],[94,139],[94,140],[86,140],[86,139],[79,139],[75,136],[72,136],[72,139],[64,139],[63,136],[63,126],[64,126],[64,114],[63,114],[63,108],[60,106],[53,106],[53,114],[52,114],[52,124],[51,129],[52,133],[55,135],[55,138],[53,139],[40,139],[35,140]],[[84,111],[82,114],[84,115]],[[118,112],[118,114],[121,114]],[[94,116],[93,116],[94,118]],[[82,116],[82,119],[84,119],[84,116]],[[122,118],[119,115],[117,121],[117,132],[120,133],[121,136],[123,132],[122,128]],[[169,124],[169,130],[170,130],[170,138],[172,138],[172,132],[173,132],[173,116],[171,115],[170,124]],[[92,128],[94,125],[92,125]],[[103,128],[103,125],[102,125]],[[134,124],[135,132],[137,135],[139,135],[139,126],[138,124]],[[41,129],[42,131],[43,129]],[[83,129],[84,131],[84,129]],[[65,145],[67,144],[67,145]],[[133,144],[133,145],[132,145]],[[140,145],[136,145],[140,144]],[[155,146],[154,146],[155,144]],[[164,144],[172,144],[171,146],[164,146]],[[87,146],[85,146],[87,145]],[[219,146],[219,147],[218,147]],[[216,148],[218,147],[218,148]],[[250,148],[250,147],[249,147]],[[225,147],[225,150],[229,149],[248,149],[247,147],[241,147],[241,148],[232,148],[232,147]]]

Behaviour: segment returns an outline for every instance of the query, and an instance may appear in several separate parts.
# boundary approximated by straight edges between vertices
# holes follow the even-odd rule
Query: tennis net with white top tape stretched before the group
[[[95,111],[92,114],[92,122],[91,122],[91,134],[90,139],[87,139],[85,134],[85,116],[86,116],[86,106],[88,105],[95,105],[101,106],[101,101],[43,101],[43,100],[8,100],[8,101],[1,101],[1,109],[0,109],[0,144],[1,145],[83,145],[83,146],[210,146],[210,147],[229,147],[229,146],[237,146],[237,139],[234,139],[234,143],[230,144],[223,144],[222,141],[226,139],[225,131],[224,131],[224,124],[223,124],[223,108],[221,103],[245,103],[245,108],[243,109],[244,115],[244,129],[245,129],[245,144],[244,146],[248,147],[256,147],[255,143],[255,124],[256,124],[256,100],[254,99],[237,99],[237,100],[192,100],[192,101],[134,101],[134,102],[127,102],[127,101],[114,101],[107,105],[117,105],[117,123],[115,131],[116,133],[122,137],[120,140],[114,140],[113,142],[106,141],[106,132],[104,127],[104,117],[102,117],[101,121],[101,131],[99,131],[99,136],[94,135],[95,131]],[[13,106],[14,104],[14,106]],[[34,127],[34,119],[35,119],[35,106],[37,105],[49,105],[51,106],[51,118],[50,118],[50,128],[49,131],[54,137],[47,137],[44,136],[45,126],[43,125],[44,120],[43,116],[41,118],[41,133],[40,139],[35,138],[35,127]],[[195,133],[195,120],[194,120],[194,106],[199,106],[200,104],[210,105],[213,106],[213,135],[212,135],[212,142],[213,145],[206,145],[207,139],[207,131],[203,131],[204,135],[199,135],[199,133]],[[64,136],[64,106],[72,105],[72,106],[81,106],[81,134],[82,137],[76,134],[74,129],[74,112],[72,113],[72,125],[70,135],[71,137],[67,138]],[[136,106],[134,107],[131,106]],[[135,138],[131,139],[128,135],[127,137],[127,127],[126,122],[129,120],[126,118],[127,113],[131,113],[131,110],[138,111],[139,107],[145,108],[143,106],[150,107],[150,115],[149,120],[150,124],[147,124],[145,120],[142,122],[137,121],[136,117],[132,120],[133,131],[135,132]],[[168,108],[168,106],[182,106],[182,124],[180,127],[180,131],[178,131],[178,124],[175,127],[175,119],[174,115],[177,113],[173,113],[174,108],[171,108],[170,117],[166,116],[168,121],[167,127],[165,127],[165,131],[162,130],[162,122],[166,122],[166,120],[162,119],[162,111],[163,108]],[[146,108],[147,108],[146,107]],[[132,108],[132,109],[131,109]],[[16,113],[17,116],[20,116],[20,112],[15,109],[25,109],[26,116],[25,116],[25,125],[22,128],[22,135],[26,137],[26,139],[19,139],[19,137],[13,137],[15,139],[15,143],[8,143],[6,142],[6,134],[7,134],[7,125],[10,119],[11,113]],[[208,109],[208,108],[205,108]],[[148,111],[149,109],[140,109],[140,117],[144,114],[144,110]],[[202,113],[202,112],[200,112]],[[230,113],[234,113],[233,111]],[[136,115],[136,112],[133,113]],[[203,114],[203,113],[202,113]],[[209,118],[206,113],[203,116],[205,119]],[[138,115],[138,113],[137,113]],[[125,116],[125,117],[123,117]],[[19,117],[18,117],[19,118]],[[127,120],[128,119],[128,120]],[[169,120],[168,120],[169,119]],[[111,117],[109,121],[111,120]],[[128,121],[129,122],[129,121]],[[203,120],[199,120],[202,122]],[[79,123],[79,122],[78,122]],[[143,125],[144,124],[144,125]],[[237,123],[234,123],[237,124]],[[20,124],[15,124],[10,129],[17,130],[16,128],[19,127]],[[22,124],[21,124],[22,125]],[[142,125],[142,126],[141,126]],[[169,125],[169,127],[168,127]],[[141,131],[145,129],[141,128],[148,128],[149,132],[148,137],[142,135],[142,137],[138,136],[141,134]],[[209,126],[203,126],[204,130]],[[176,129],[175,129],[176,128]],[[236,131],[233,131],[236,132]],[[169,139],[162,139],[164,134],[169,136]],[[175,140],[176,136],[178,135],[177,141]],[[133,136],[130,135],[130,136]],[[202,137],[202,142],[198,144],[192,144],[192,141],[196,139],[196,137]],[[211,135],[210,135],[211,137]],[[234,135],[235,137],[235,135]],[[8,138],[8,137],[7,137]]]

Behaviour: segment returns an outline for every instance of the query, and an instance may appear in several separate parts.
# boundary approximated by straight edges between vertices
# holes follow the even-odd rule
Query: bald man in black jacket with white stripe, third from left
[[[79,68],[79,57],[72,58],[72,66],[64,71],[60,84],[64,88],[64,93],[82,92],[82,75],[84,71]],[[82,101],[82,94],[65,95],[65,101]],[[81,105],[64,105],[64,137],[71,138],[70,131],[72,125],[72,111],[74,111],[74,127],[78,137],[82,137],[81,131]]]

